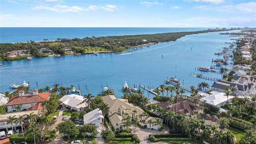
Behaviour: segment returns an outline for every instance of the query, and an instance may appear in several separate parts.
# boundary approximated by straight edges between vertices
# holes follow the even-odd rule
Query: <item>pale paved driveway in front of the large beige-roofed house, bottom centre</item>
[[[135,125],[132,124],[132,126],[130,126],[130,128],[132,129],[132,134],[134,133],[134,127]],[[153,142],[150,142],[147,138],[148,135],[151,134],[168,134],[169,133],[169,129],[164,128],[162,131],[158,131],[158,130],[151,130],[150,128],[140,128],[138,126],[136,126],[135,129],[135,134],[138,134],[138,137],[140,138],[140,144],[150,144]],[[157,142],[158,144],[168,144],[166,142]]]

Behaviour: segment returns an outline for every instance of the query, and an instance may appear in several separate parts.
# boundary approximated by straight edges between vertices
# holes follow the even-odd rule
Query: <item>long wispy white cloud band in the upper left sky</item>
[[[80,6],[66,6],[66,5],[60,5],[56,4],[55,6],[35,6],[32,7],[34,10],[50,10],[54,12],[86,12],[89,10],[104,10],[107,12],[114,12],[115,10],[118,10],[117,6],[106,4],[105,6],[88,6],[88,8],[83,8]]]

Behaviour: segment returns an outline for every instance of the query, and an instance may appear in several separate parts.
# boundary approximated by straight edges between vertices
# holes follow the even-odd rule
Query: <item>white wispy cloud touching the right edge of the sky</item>
[[[248,2],[248,3],[241,3],[241,4],[236,4],[236,5],[223,5],[223,6],[197,6],[195,7],[196,9],[200,10],[215,10],[215,11],[220,11],[220,12],[243,12],[243,13],[254,13],[255,14],[255,8],[256,8],[256,2]]]

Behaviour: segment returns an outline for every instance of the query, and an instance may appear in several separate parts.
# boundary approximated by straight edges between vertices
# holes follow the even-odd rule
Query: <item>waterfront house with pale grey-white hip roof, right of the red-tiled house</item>
[[[65,95],[60,98],[60,101],[62,102],[62,108],[68,108],[78,112],[84,110],[84,108],[87,106],[86,99],[84,99],[83,96],[79,96],[77,94]]]

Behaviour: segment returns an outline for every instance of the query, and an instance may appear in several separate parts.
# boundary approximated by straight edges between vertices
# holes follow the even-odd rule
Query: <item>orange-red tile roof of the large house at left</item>
[[[50,92],[42,92],[42,93],[38,93],[37,95],[28,95],[28,96],[16,95],[10,98],[6,106],[49,101],[49,96],[50,96]]]

